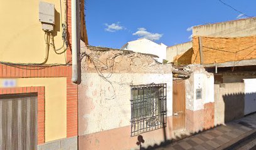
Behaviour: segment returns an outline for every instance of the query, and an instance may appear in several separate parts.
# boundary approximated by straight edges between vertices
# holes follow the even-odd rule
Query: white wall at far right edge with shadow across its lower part
[[[256,111],[256,79],[243,79],[245,83],[245,115]]]

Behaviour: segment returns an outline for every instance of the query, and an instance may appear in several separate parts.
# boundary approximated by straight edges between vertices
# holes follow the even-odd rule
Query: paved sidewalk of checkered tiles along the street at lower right
[[[252,131],[252,129],[256,129],[256,114],[252,114],[226,125],[221,125],[208,131],[204,131],[196,134],[195,136],[181,139],[180,141],[176,141],[167,146],[157,148],[157,150],[216,149],[223,144],[227,144],[228,142],[238,138],[239,136],[247,134],[248,132]]]

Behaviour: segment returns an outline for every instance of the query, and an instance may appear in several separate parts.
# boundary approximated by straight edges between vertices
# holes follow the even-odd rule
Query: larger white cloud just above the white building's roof
[[[149,32],[144,27],[139,27],[138,31],[136,31],[132,35],[139,36],[141,38],[149,39],[152,41],[159,40],[163,36],[163,34]]]

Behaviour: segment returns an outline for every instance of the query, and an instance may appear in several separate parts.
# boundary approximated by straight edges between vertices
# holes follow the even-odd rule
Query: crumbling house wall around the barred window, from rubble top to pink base
[[[173,74],[170,64],[159,64],[150,56],[138,53],[126,54],[125,51],[90,51],[87,49],[86,53],[87,56],[82,59],[82,79],[78,86],[78,133],[82,137],[80,143],[84,145],[92,143],[87,148],[100,149],[103,144],[103,141],[99,141],[100,137],[103,137],[105,132],[118,130],[118,134],[127,140],[115,141],[118,136],[114,135],[111,137],[111,144],[122,143],[119,145],[122,145],[123,149],[136,146],[131,139],[134,141],[137,138],[131,138],[130,133],[131,84],[167,83],[167,116],[171,117],[173,114]],[[172,122],[168,122],[167,126],[166,134],[170,139]],[[99,135],[99,132],[102,132],[102,135]],[[143,146],[160,144],[164,140],[163,131],[160,132],[161,134],[157,134],[161,138],[151,135]],[[150,133],[154,131],[148,134]],[[99,136],[95,138],[97,143],[88,141],[91,140],[90,137],[95,137],[94,134]],[[99,147],[96,148],[93,145]],[[117,144],[106,146],[105,148],[109,149],[120,149]]]

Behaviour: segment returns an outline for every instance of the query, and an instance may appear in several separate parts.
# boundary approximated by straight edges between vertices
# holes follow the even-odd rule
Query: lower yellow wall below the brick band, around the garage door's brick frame
[[[16,84],[17,87],[45,86],[45,142],[66,138],[67,78],[18,78]]]

